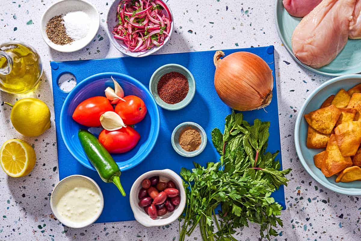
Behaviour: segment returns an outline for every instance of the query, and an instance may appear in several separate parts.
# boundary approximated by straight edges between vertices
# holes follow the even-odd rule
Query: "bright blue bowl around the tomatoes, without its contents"
[[[134,126],[139,132],[138,145],[129,152],[123,154],[112,154],[121,171],[126,171],[141,163],[152,151],[159,134],[159,112],[157,104],[148,89],[136,79],[120,73],[100,73],[90,76],[80,83],[66,97],[60,112],[61,137],[71,155],[74,156],[85,167],[95,170],[88,160],[78,138],[79,129],[87,129],[93,134],[100,133],[100,128],[88,128],[78,124],[72,118],[73,112],[79,103],[93,96],[105,96],[106,87],[114,88],[110,77],[122,86],[125,95],[136,95],[141,98],[147,106],[147,115],[144,120]]]

